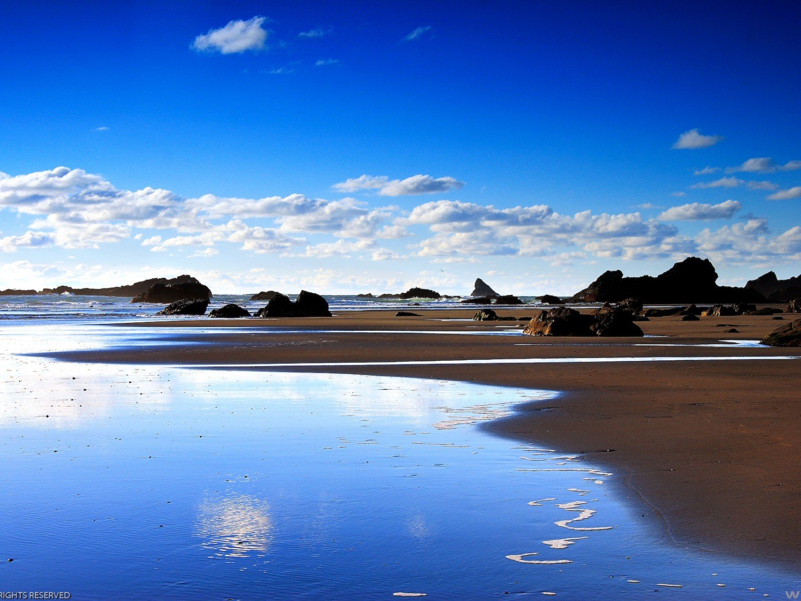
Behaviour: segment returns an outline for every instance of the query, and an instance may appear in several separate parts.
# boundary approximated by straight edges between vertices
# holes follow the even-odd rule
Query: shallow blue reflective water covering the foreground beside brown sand
[[[671,544],[593,459],[480,427],[558,391],[27,354],[130,343],[126,331],[0,329],[2,591],[761,599],[798,588],[775,567]]]

